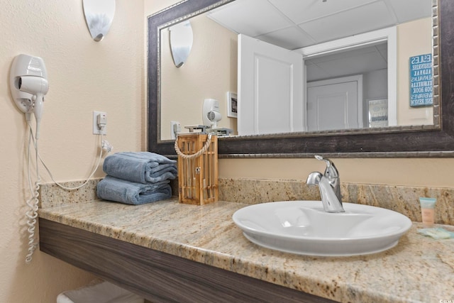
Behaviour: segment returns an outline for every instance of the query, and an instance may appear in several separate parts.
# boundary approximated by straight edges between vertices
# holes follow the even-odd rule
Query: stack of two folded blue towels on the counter
[[[106,157],[103,170],[107,176],[97,185],[100,199],[145,204],[172,197],[177,161],[149,152],[115,153]]]

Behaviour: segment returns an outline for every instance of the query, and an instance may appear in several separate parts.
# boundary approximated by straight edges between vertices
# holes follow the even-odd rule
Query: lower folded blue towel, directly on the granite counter
[[[145,204],[172,197],[170,181],[157,183],[138,183],[106,176],[99,181],[96,194],[99,199],[126,204]]]

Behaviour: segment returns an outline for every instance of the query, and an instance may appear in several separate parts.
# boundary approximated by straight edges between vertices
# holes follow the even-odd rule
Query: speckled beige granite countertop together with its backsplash
[[[301,180],[219,179],[223,201],[204,206],[177,198],[142,206],[96,200],[96,184],[75,191],[43,184],[40,216],[302,290],[339,302],[440,302],[454,299],[454,240],[436,241],[416,233],[414,223],[399,245],[384,253],[316,258],[280,253],[250,243],[232,214],[248,204],[319,200],[319,189]],[[82,182],[66,182],[74,187]],[[344,202],[399,211],[421,221],[419,197],[436,197],[436,222],[454,231],[454,189],[341,184]]]

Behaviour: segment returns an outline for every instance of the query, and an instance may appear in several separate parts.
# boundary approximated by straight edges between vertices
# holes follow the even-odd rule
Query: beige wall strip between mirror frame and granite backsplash
[[[340,172],[341,182],[454,188],[454,158],[331,160]],[[219,176],[306,182],[309,173],[323,172],[324,167],[322,162],[315,159],[221,159]]]

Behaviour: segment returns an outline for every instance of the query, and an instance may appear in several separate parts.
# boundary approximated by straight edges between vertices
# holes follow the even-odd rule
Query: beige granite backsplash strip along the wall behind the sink
[[[40,186],[40,208],[60,206],[68,203],[82,203],[98,199],[93,179],[74,191],[61,189],[56,184]],[[83,181],[64,182],[75,187]],[[242,178],[219,178],[219,200],[258,204],[288,200],[319,200],[319,188],[309,187],[302,180],[260,180]],[[172,182],[172,192],[178,195],[177,180]],[[398,211],[411,221],[421,222],[419,197],[433,197],[436,202],[436,223],[454,225],[454,188],[409,187],[378,184],[341,183],[343,202],[356,202]]]

